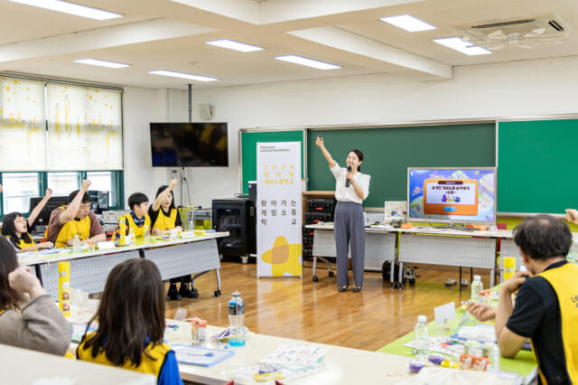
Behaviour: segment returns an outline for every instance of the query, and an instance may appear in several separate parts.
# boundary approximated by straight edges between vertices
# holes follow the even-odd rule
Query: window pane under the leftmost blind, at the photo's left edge
[[[2,175],[4,213],[28,212],[30,198],[39,196],[38,173],[5,173]]]

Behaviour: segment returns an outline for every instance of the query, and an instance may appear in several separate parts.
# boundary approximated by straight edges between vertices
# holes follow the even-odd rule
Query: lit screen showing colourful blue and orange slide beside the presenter
[[[495,167],[407,168],[410,221],[496,223]]]

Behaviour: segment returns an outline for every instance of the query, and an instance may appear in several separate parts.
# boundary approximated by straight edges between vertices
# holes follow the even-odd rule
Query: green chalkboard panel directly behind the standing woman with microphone
[[[351,149],[363,152],[361,172],[371,175],[369,195],[363,203],[367,207],[406,201],[407,167],[496,165],[494,123],[311,130],[307,134],[309,190],[335,189],[335,178],[315,146],[318,135],[341,166]]]

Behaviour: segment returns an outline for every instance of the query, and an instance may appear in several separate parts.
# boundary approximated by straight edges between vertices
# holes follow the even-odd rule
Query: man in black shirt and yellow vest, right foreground
[[[576,383],[578,266],[566,260],[572,233],[563,221],[542,214],[517,225],[514,240],[528,272],[518,272],[499,286],[497,309],[470,304],[467,310],[480,321],[496,319],[499,352],[504,357],[514,357],[530,339],[539,383]]]

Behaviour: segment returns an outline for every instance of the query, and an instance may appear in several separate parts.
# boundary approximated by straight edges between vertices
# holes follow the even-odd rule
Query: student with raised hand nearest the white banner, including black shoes
[[[163,185],[156,191],[156,199],[149,208],[149,215],[153,222],[153,234],[170,234],[172,229],[182,227],[181,215],[174,206],[172,189],[179,183],[178,179],[172,179],[171,185]],[[181,282],[181,288],[177,290],[177,283]],[[175,301],[182,298],[194,298],[195,294],[191,291],[191,276],[182,276],[171,278],[171,285],[167,296]]]

